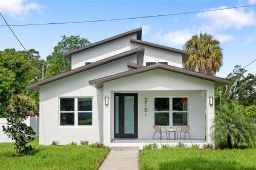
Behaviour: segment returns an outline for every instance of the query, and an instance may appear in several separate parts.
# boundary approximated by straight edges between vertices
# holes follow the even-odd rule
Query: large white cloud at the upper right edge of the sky
[[[226,6],[210,8],[210,10],[220,8],[226,8]],[[200,28],[200,31],[203,32],[212,33],[217,31],[225,31],[228,28],[241,29],[246,26],[256,25],[255,12],[245,11],[243,8],[201,12],[196,16],[199,19],[204,19],[205,23]]]

